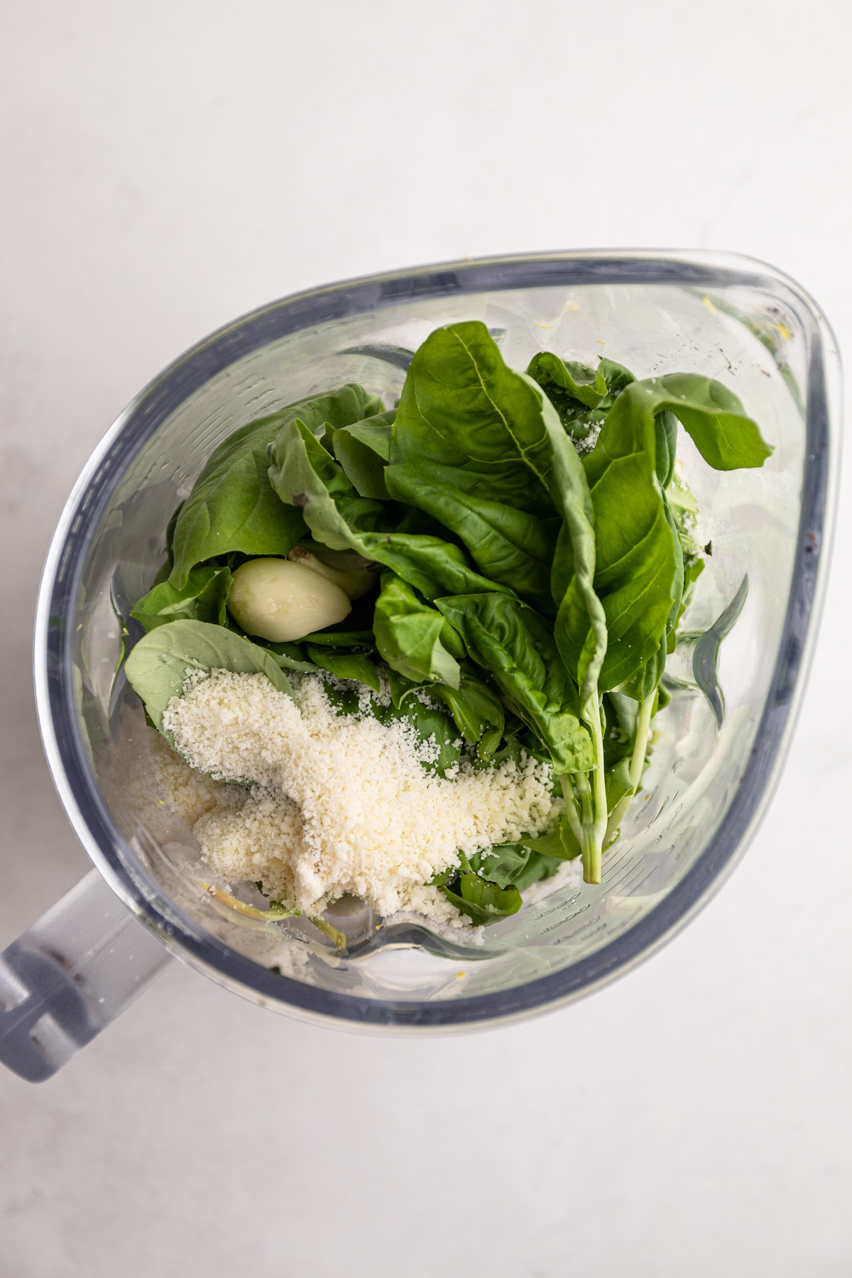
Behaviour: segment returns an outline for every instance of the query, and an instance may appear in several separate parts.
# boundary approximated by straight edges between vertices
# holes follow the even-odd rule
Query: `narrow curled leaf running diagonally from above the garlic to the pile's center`
[[[360,497],[342,466],[299,422],[286,423],[270,458],[270,481],[282,501],[298,506],[318,542],[331,550],[356,550],[392,569],[428,599],[438,594],[493,590],[464,551],[441,537],[384,530],[386,507]]]

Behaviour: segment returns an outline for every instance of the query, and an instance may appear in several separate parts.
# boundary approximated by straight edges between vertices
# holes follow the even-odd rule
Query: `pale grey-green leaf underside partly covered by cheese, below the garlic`
[[[128,682],[144,702],[153,726],[172,697],[180,697],[188,675],[202,670],[230,670],[238,675],[266,675],[280,693],[293,694],[268,652],[224,626],[206,621],[170,621],[143,635],[124,663]]]

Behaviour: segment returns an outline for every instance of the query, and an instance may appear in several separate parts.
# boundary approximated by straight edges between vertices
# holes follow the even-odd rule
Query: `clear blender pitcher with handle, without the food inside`
[[[206,887],[192,829],[158,795],[123,662],[130,608],[211,451],[293,400],[361,382],[390,406],[439,325],[482,320],[506,362],[605,353],[637,377],[691,371],[737,392],[774,452],[761,470],[695,465],[711,556],[669,658],[672,700],[603,882],[535,884],[484,933],[344,900],[337,948]],[[56,530],[36,625],[47,762],[95,869],[0,956],[0,1061],[50,1077],[174,955],[255,1003],[383,1031],[461,1030],[588,993],[668,939],[752,837],[809,666],[838,470],[830,330],[773,268],[719,253],[566,252],[391,272],[285,298],[213,334],[121,414]],[[225,886],[239,896],[240,887]]]

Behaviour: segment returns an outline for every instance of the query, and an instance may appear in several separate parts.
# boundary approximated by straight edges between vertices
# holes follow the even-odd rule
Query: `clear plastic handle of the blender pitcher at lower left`
[[[29,1082],[50,1079],[169,960],[91,870],[0,953],[0,1062]]]

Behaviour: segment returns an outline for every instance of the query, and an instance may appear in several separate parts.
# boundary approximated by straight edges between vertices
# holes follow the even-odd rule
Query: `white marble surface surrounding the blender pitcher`
[[[87,864],[29,688],[50,534],[194,340],[383,267],[654,244],[775,262],[852,351],[837,0],[33,0],[4,27],[0,946]],[[664,952],[429,1042],[175,964],[51,1082],[0,1076],[3,1278],[852,1272],[847,576],[772,813]]]

